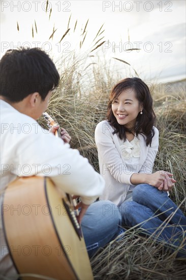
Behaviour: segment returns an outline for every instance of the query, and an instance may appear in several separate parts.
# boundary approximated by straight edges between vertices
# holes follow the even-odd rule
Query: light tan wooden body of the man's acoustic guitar
[[[49,178],[20,177],[9,184],[4,231],[21,279],[93,279],[81,228],[69,209],[68,196],[59,195]]]

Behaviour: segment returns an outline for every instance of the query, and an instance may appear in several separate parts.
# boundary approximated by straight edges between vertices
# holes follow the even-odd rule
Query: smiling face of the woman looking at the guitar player
[[[133,89],[126,89],[112,103],[112,112],[118,124],[132,128],[136,124],[136,118],[143,109],[136,98]]]

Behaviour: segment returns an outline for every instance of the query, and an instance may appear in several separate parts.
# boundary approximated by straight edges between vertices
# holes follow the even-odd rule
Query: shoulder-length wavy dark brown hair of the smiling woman
[[[107,111],[107,120],[110,125],[114,128],[114,132],[118,133],[119,138],[126,141],[126,132],[132,133],[124,125],[118,124],[114,114],[112,112],[112,103],[122,91],[127,89],[133,89],[136,93],[136,98],[139,104],[143,106],[143,114],[140,113],[137,116],[135,132],[136,136],[142,134],[146,136],[146,145],[151,145],[152,137],[154,135],[153,125],[156,121],[156,115],[154,114],[152,108],[152,97],[150,95],[149,89],[140,78],[126,78],[117,83],[110,93]]]

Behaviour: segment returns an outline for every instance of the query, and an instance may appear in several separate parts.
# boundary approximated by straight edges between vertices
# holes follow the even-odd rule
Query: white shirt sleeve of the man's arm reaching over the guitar
[[[102,194],[104,179],[78,150],[64,145],[60,138],[39,132],[25,136],[20,145],[18,176],[51,177],[58,188],[80,195],[85,204],[94,202]]]

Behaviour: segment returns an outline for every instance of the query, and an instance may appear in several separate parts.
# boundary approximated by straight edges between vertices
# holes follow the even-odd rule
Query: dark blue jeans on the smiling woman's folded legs
[[[186,257],[186,217],[167,196],[167,192],[148,184],[140,184],[134,188],[132,199],[119,206],[122,225],[137,225],[142,234],[166,242],[165,245],[170,245],[172,251],[182,246],[177,257]]]

